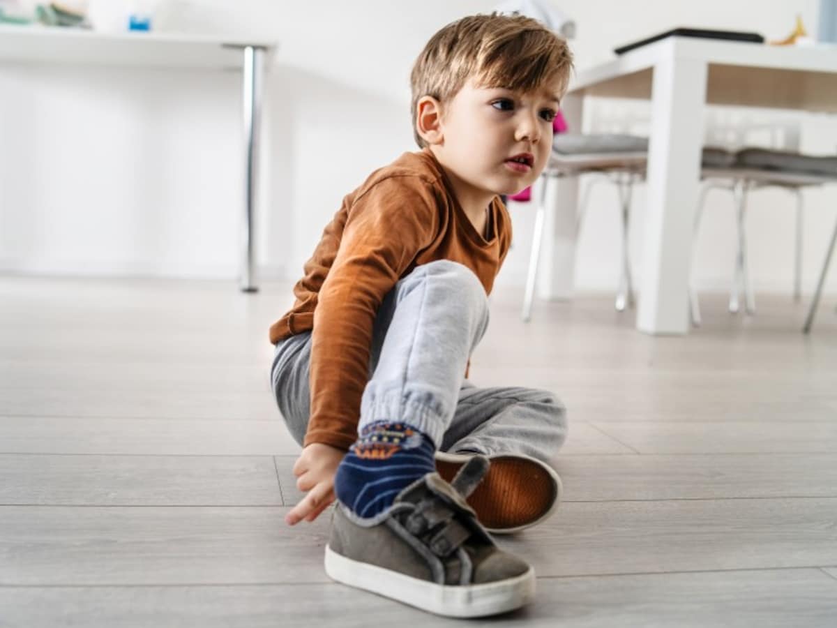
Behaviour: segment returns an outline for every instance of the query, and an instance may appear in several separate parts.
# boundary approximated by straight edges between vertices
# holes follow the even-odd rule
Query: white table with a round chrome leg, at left
[[[244,97],[243,291],[257,290],[255,208],[262,76],[273,42],[170,33],[95,33],[76,28],[0,26],[0,63],[69,63],[159,68],[241,69]]]

